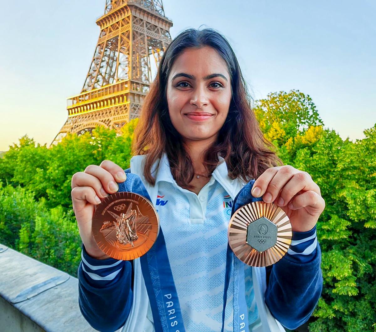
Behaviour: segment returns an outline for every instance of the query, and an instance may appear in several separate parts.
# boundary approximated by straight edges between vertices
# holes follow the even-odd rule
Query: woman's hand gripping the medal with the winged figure
[[[109,258],[97,246],[92,234],[92,217],[95,205],[119,189],[117,182],[126,180],[124,170],[111,160],[103,160],[99,166],[89,165],[83,172],[73,174],[71,196],[80,236],[86,252],[93,258]]]

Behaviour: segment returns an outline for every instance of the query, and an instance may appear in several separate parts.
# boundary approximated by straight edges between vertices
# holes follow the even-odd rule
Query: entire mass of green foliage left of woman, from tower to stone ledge
[[[0,243],[77,275],[81,238],[71,202],[71,178],[109,159],[129,167],[134,119],[115,130],[68,134],[58,145],[35,145],[26,135],[0,159]]]

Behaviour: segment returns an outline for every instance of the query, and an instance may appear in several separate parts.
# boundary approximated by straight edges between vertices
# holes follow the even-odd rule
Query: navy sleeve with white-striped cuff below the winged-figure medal
[[[132,261],[97,260],[83,244],[81,258],[77,272],[80,311],[94,329],[115,331],[125,324],[132,308]]]

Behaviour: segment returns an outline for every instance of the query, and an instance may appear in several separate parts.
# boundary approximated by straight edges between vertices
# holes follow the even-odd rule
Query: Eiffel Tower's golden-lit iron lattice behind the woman
[[[78,135],[97,125],[115,129],[137,118],[156,68],[171,42],[172,21],[162,0],[106,0],[100,34],[79,95],[68,98],[68,119],[56,135]]]

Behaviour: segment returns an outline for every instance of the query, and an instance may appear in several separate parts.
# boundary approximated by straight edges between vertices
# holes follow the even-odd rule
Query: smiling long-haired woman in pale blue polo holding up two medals
[[[162,330],[164,318],[150,305],[154,300],[148,298],[140,259],[110,258],[92,235],[95,205],[126,190],[143,194],[158,211],[179,298],[168,310],[173,313],[166,318],[169,330],[273,331],[308,320],[322,288],[315,225],[325,203],[308,173],[281,166],[269,148],[226,39],[213,29],[180,33],[165,51],[144,102],[127,176],[105,160],[72,178],[83,242],[79,305],[91,326]],[[273,266],[246,266],[242,292],[234,286],[234,265],[227,265],[227,226],[238,193],[251,187],[254,198],[285,211],[293,242]],[[161,306],[172,303],[169,296]],[[243,313],[238,311],[241,298]],[[181,312],[180,329],[173,325],[175,309]]]

